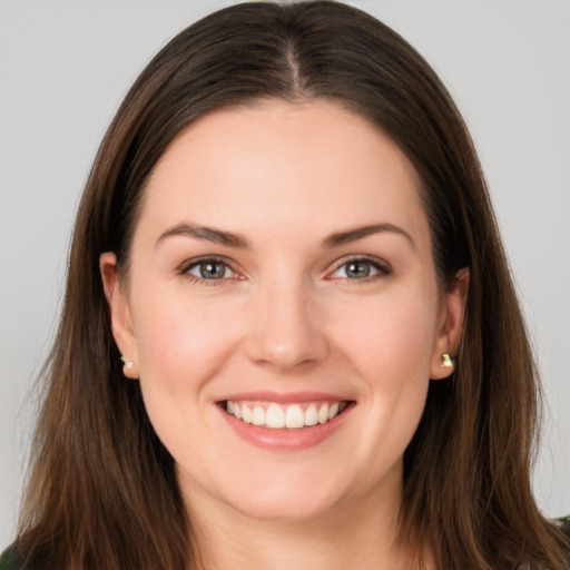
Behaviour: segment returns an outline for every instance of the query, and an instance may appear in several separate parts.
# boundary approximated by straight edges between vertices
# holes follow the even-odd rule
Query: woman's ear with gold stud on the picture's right
[[[433,345],[430,377],[441,380],[451,375],[453,366],[442,366],[442,355],[449,354],[454,363],[463,332],[463,317],[469,291],[469,267],[460,269],[441,301],[438,332]]]

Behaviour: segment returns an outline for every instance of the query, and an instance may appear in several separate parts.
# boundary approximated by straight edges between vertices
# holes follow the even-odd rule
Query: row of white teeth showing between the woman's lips
[[[268,430],[302,430],[323,425],[341,415],[352,402],[308,402],[304,404],[262,404],[222,402],[222,409],[236,420]]]

